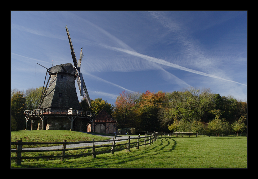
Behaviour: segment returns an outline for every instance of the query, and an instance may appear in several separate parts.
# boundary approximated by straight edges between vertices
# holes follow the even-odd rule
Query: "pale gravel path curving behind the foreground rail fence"
[[[98,135],[98,136],[101,136],[101,137],[112,138],[112,139],[106,140],[105,142],[95,142],[95,145],[112,144],[112,142],[109,141],[109,140],[113,140],[113,137],[112,137],[112,136],[99,135],[99,134],[92,134],[92,133],[89,133],[89,132],[83,132],[83,133],[91,134],[91,135]],[[131,136],[130,136],[130,138],[131,138]],[[134,137],[132,137],[132,138],[134,138]],[[128,137],[116,137],[116,139],[125,139],[125,140],[127,140]],[[87,146],[92,146],[92,143],[66,145],[66,149],[68,149],[68,148],[76,148],[76,147],[87,147]],[[52,147],[37,147],[37,148],[29,148],[29,149],[37,150],[37,149],[62,149],[62,148],[63,148],[63,145],[52,146]],[[27,148],[27,149],[28,149],[28,148]],[[14,149],[13,149],[13,150],[14,150]],[[22,149],[22,150],[25,150],[25,148]]]

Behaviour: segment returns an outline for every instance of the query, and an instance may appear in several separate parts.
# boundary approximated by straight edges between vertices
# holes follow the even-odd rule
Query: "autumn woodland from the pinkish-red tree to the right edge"
[[[113,117],[119,128],[137,131],[225,132],[247,130],[247,101],[210,88],[120,93]]]

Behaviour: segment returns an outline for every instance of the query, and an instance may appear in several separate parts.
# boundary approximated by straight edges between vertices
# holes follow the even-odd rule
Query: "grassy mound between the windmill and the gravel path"
[[[95,140],[107,140],[112,137],[100,137],[97,135],[90,135],[78,131],[70,130],[20,130],[11,131],[11,142],[22,140],[23,142],[78,142],[78,141],[92,141]],[[57,144],[60,145],[60,144]],[[33,147],[47,147],[55,145],[23,145],[22,148]],[[15,145],[11,145],[11,149],[15,149]]]

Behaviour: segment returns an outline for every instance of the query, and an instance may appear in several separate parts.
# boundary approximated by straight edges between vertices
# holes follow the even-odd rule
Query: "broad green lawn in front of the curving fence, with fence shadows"
[[[89,149],[88,149],[89,150]],[[23,156],[23,155],[22,155]],[[160,137],[151,146],[100,154],[96,159],[23,160],[11,168],[247,168],[246,137]]]

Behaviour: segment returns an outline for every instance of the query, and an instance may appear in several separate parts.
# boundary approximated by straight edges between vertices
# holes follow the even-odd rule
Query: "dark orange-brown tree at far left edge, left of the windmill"
[[[25,129],[26,120],[23,110],[26,110],[26,98],[21,92],[17,92],[11,98],[11,116],[17,123],[17,130]]]

